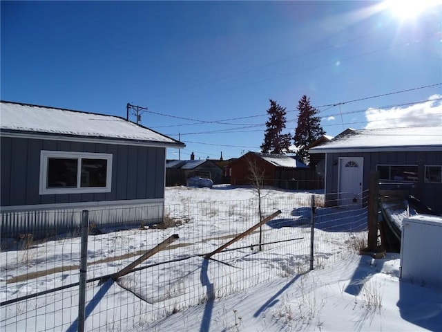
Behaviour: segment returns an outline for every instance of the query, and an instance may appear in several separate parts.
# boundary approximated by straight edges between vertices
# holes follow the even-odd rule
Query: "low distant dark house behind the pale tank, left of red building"
[[[214,184],[222,181],[222,169],[212,160],[167,160],[166,186],[186,185],[193,176],[210,178]]]

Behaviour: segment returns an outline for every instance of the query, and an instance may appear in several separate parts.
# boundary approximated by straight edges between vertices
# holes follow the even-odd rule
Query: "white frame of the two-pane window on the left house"
[[[77,158],[77,187],[48,188],[48,160],[49,158]],[[106,187],[81,187],[81,159],[104,159],[107,160]],[[112,154],[95,154],[90,152],[71,151],[47,151],[40,152],[40,179],[39,194],[88,194],[99,192],[111,192],[112,188]]]

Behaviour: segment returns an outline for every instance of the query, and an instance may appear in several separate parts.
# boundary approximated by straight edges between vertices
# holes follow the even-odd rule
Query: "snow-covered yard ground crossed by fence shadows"
[[[365,210],[318,208],[309,271],[311,192],[265,190],[259,221],[250,188],[166,188],[175,227],[90,236],[88,279],[115,273],[172,234],[180,239],[140,270],[88,283],[86,331],[442,331],[442,290],[401,282],[398,254],[358,256]],[[320,204],[320,195],[316,196]],[[0,301],[78,281],[79,239],[0,253]],[[229,247],[230,248],[230,247]],[[169,261],[167,264],[162,264]],[[34,273],[34,274],[32,274]],[[26,275],[23,277],[23,275]],[[1,331],[77,331],[78,287],[0,307]]]

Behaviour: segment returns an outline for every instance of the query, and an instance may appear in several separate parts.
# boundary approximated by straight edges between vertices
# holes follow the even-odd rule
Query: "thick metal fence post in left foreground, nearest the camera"
[[[80,278],[78,298],[78,331],[84,332],[85,308],[86,308],[86,278],[88,267],[88,232],[89,211],[81,212],[81,251],[80,251]]]

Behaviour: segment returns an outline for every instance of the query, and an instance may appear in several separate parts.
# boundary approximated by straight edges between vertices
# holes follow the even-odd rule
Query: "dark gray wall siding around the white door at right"
[[[327,154],[326,185],[327,201],[336,203],[338,192],[338,159],[339,157],[363,157],[364,178],[363,190],[368,190],[370,172],[376,170],[376,165],[419,165],[419,183],[412,190],[412,194],[426,205],[442,213],[442,184],[424,182],[425,165],[442,165],[441,151],[393,151],[393,152],[348,152]]]

